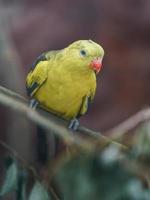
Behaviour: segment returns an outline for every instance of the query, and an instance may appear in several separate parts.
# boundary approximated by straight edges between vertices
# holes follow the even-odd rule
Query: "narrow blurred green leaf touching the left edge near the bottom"
[[[5,180],[0,190],[0,196],[4,196],[9,192],[17,190],[17,181],[18,181],[18,168],[16,161],[13,161],[7,168]]]

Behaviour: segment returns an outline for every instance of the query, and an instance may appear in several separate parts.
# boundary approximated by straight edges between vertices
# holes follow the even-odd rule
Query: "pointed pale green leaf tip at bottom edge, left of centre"
[[[39,181],[36,181],[29,196],[29,200],[50,200],[50,196]]]

